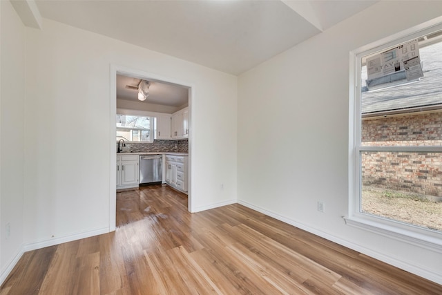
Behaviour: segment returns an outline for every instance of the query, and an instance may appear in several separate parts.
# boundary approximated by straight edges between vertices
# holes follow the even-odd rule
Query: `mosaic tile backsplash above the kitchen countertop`
[[[131,153],[189,153],[189,140],[154,140],[151,144],[128,142],[126,151]]]

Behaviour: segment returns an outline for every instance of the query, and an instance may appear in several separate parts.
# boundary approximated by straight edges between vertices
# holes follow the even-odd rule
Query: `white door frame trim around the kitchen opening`
[[[188,205],[187,209],[189,212],[194,212],[193,202],[192,202],[192,191],[191,191],[191,166],[192,166],[192,102],[194,86],[189,82],[179,81],[171,77],[164,77],[162,75],[157,75],[155,73],[145,72],[143,70],[137,70],[133,68],[127,68],[124,66],[117,66],[111,64],[110,68],[110,89],[109,89],[109,101],[110,101],[110,113],[109,113],[109,231],[115,231],[116,229],[116,210],[117,210],[117,191],[116,191],[116,179],[117,171],[115,166],[117,164],[117,157],[115,155],[115,134],[117,132],[115,125],[115,115],[117,115],[117,75],[125,75],[127,77],[135,77],[139,79],[146,79],[149,81],[165,82],[170,84],[177,84],[189,88],[189,191],[188,191]]]

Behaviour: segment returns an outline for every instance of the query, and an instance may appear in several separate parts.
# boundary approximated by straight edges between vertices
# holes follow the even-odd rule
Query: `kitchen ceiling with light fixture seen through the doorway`
[[[141,79],[117,75],[117,99],[140,102],[137,89],[127,87],[137,87],[140,81]],[[149,96],[144,100],[145,103],[180,107],[189,102],[187,87],[157,81],[149,81],[149,84]]]

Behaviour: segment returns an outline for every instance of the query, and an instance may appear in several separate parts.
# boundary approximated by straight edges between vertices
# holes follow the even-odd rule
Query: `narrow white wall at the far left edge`
[[[23,243],[23,102],[26,30],[9,1],[1,6],[0,283]],[[6,224],[10,237],[6,240]]]

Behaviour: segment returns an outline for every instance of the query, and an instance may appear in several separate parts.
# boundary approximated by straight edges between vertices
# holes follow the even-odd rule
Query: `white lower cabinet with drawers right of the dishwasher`
[[[189,191],[188,159],[186,155],[166,155],[166,184],[184,193]]]

